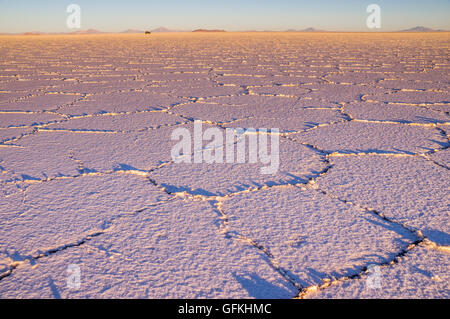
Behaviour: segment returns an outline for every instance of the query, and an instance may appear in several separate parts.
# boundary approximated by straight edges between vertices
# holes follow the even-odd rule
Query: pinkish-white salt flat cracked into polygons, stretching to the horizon
[[[449,49],[0,36],[0,297],[449,298]],[[195,120],[279,129],[279,170],[174,162]]]

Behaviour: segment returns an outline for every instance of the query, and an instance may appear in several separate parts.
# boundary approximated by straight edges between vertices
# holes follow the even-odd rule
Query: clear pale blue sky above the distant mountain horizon
[[[0,33],[66,32],[66,8],[81,6],[82,29],[218,28],[368,31],[367,5],[381,7],[382,28],[450,30],[450,0],[0,0]]]

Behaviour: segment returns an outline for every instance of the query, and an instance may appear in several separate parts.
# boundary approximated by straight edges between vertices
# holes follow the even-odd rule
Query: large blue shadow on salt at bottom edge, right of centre
[[[286,288],[275,286],[257,274],[237,275],[233,273],[233,277],[255,299],[289,298],[292,295],[291,289],[288,289],[284,282],[283,285]]]

